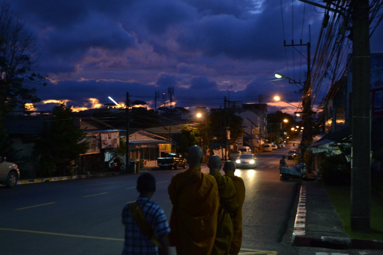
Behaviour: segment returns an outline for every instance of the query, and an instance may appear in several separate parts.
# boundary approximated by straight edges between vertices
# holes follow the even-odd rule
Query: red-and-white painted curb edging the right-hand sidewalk
[[[348,248],[383,250],[383,241],[378,240],[306,235],[306,185],[304,184],[302,184],[300,190],[291,244],[294,246],[321,247],[339,250]]]

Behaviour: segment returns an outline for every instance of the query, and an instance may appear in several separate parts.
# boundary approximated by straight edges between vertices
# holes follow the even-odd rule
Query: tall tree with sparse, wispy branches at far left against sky
[[[8,3],[0,3],[0,128],[11,111],[25,110],[25,103],[36,103],[36,88],[46,78],[36,74],[36,41]]]

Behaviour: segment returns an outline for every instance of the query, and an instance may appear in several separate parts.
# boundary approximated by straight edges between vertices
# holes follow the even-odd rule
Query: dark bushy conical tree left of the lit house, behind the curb
[[[73,112],[64,103],[55,106],[53,118],[45,123],[43,134],[37,139],[33,156],[40,176],[65,174],[70,161],[88,149],[83,129],[75,127]]]

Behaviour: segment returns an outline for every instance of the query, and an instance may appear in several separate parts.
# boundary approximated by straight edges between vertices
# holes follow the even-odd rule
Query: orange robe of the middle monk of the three
[[[217,235],[211,255],[227,255],[234,235],[232,217],[238,209],[236,188],[231,178],[218,171],[211,175],[217,181],[219,192]]]

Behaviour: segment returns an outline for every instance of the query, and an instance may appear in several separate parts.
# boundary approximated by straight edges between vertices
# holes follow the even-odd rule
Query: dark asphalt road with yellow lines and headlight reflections
[[[279,178],[279,159],[288,150],[259,154],[257,169],[236,170],[246,186],[241,253],[317,254],[315,248],[290,245],[300,182]],[[180,171],[152,171],[157,181],[153,199],[168,218],[172,205],[167,187]],[[208,173],[206,165],[202,171]],[[137,198],[138,176],[0,187],[0,254],[120,254],[124,238],[120,214],[126,202]],[[171,252],[175,254],[173,248]]]

